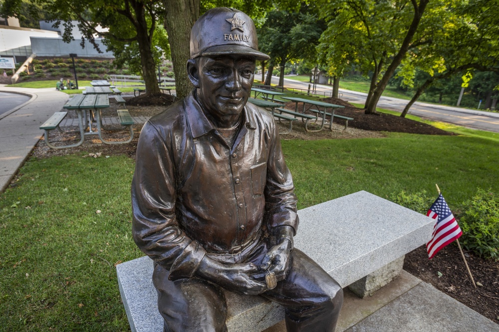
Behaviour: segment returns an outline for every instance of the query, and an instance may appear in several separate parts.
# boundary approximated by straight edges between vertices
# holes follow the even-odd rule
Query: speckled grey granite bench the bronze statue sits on
[[[406,253],[426,243],[434,221],[360,191],[298,211],[295,247],[315,260],[341,287],[361,297],[391,281]],[[121,298],[133,332],[161,332],[163,319],[145,256],[116,266]],[[379,279],[382,279],[381,281]],[[229,332],[258,332],[284,318],[282,307],[257,296],[226,292]]]

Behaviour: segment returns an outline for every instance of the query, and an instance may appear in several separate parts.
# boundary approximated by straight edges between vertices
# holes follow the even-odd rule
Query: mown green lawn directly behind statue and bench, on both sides
[[[383,198],[442,189],[451,208],[499,189],[494,137],[389,133],[282,140],[299,209],[359,190]],[[0,195],[2,331],[128,331],[115,264],[142,256],[131,237],[133,160],[30,159]]]

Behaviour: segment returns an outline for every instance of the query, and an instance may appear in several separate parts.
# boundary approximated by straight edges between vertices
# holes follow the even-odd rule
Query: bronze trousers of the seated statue
[[[260,242],[250,252],[234,255],[234,262],[259,266],[267,250],[267,244]],[[198,278],[170,281],[168,275],[155,264],[153,283],[165,332],[227,331],[227,303],[220,286]],[[297,249],[291,251],[286,279],[259,296],[285,308],[286,329],[291,332],[334,331],[343,304],[338,283]]]

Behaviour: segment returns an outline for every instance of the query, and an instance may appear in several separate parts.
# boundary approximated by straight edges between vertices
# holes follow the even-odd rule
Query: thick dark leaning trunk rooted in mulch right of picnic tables
[[[395,73],[395,69],[397,69],[397,67],[400,65],[402,59],[409,50],[411,40],[414,37],[416,31],[418,30],[419,22],[421,21],[421,17],[423,16],[423,12],[425,11],[428,1],[429,0],[421,0],[419,2],[419,6],[416,4],[416,1],[414,1],[414,17],[411,22],[411,25],[407,30],[407,34],[404,38],[404,41],[402,42],[402,45],[400,46],[400,50],[393,57],[392,63],[390,63],[385,74],[376,85],[376,88],[372,93],[372,97],[369,99],[369,101],[366,101],[366,111],[365,111],[366,114],[376,113],[376,105],[378,105],[378,101],[381,95],[383,94],[383,91],[385,91],[385,88],[388,85],[388,81],[393,76],[393,74]]]

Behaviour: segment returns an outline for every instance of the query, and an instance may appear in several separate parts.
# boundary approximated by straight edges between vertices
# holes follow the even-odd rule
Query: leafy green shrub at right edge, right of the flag
[[[479,189],[463,204],[459,224],[461,243],[481,257],[499,260],[499,197],[490,190]]]

